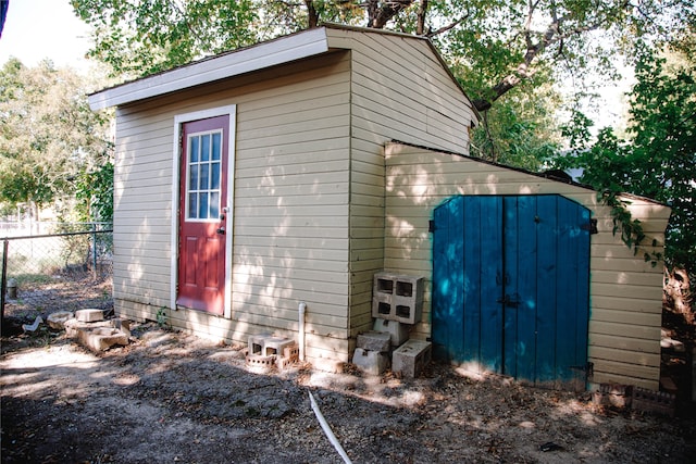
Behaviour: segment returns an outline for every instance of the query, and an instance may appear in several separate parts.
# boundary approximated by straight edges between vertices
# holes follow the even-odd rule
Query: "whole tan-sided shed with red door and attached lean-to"
[[[236,342],[261,333],[297,339],[306,303],[307,360],[337,369],[350,361],[358,334],[373,326],[374,275],[390,271],[424,277],[423,318],[411,337],[464,362],[456,341],[463,325],[461,337],[443,327],[481,313],[448,315],[457,303],[440,290],[450,273],[438,280],[437,269],[458,259],[436,258],[437,230],[446,229],[440,213],[476,197],[494,202],[480,211],[499,202],[502,221],[512,200],[554,199],[597,220],[584,264],[566,267],[587,279],[573,306],[584,304],[585,318],[573,330],[584,337],[581,358],[594,364],[593,380],[658,388],[661,269],[612,235],[596,192],[468,158],[476,112],[427,39],[324,25],[104,89],[89,101],[95,110],[116,106],[120,316],[164,315],[173,327]],[[660,249],[669,208],[632,200]],[[483,235],[488,223],[481,217],[488,216],[476,220]],[[453,248],[471,242],[459,239]],[[544,237],[535,240],[544,248]],[[535,280],[544,284],[535,287],[539,294],[556,276],[546,272]],[[506,272],[498,274],[505,283]],[[467,293],[459,284],[457,294]],[[554,308],[567,306],[566,291],[555,287]],[[548,331],[524,337],[561,342],[567,327],[554,314],[560,322]],[[498,317],[498,329],[510,323]],[[494,355],[498,365],[478,355],[478,368],[525,377],[507,371],[506,350],[529,350],[527,341],[497,337],[501,347],[509,342]],[[495,344],[476,343],[478,352]]]

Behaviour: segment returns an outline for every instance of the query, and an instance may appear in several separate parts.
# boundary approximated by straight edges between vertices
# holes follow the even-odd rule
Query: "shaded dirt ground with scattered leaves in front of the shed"
[[[350,366],[348,366],[350,367]],[[62,333],[3,337],[3,463],[685,463],[696,418],[599,407],[589,393],[472,379],[260,372],[243,347],[136,325],[99,355]]]

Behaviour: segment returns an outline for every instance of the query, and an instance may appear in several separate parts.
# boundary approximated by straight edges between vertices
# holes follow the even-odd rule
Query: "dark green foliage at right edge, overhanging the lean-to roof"
[[[569,133],[580,145],[559,160],[560,167],[582,167],[582,181],[604,192],[612,206],[617,231],[635,248],[645,238],[642,225],[626,215],[618,192],[647,196],[672,206],[666,234],[666,260],[672,267],[696,271],[696,71],[693,65],[668,66],[642,49],[631,92],[630,138],[620,140],[610,128],[591,147],[582,127]],[[588,127],[588,122],[577,116]],[[652,256],[646,256],[652,258]]]

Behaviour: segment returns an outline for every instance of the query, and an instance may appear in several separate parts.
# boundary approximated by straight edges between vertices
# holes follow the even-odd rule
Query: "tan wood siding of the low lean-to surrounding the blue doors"
[[[592,236],[588,358],[595,383],[657,390],[660,374],[662,266],[633,254],[612,234],[612,218],[596,192],[472,159],[391,143],[386,148],[385,268],[426,276],[420,338],[430,337],[433,210],[455,195],[559,193],[598,220]],[[632,198],[631,212],[661,251],[670,209]],[[651,251],[652,249],[648,249]]]

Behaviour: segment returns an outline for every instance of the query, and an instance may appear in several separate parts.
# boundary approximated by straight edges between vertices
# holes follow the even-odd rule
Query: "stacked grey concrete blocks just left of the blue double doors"
[[[391,364],[395,373],[415,377],[431,359],[431,343],[409,344],[409,333],[423,316],[423,277],[377,273],[372,288],[373,330],[358,336],[352,362],[378,375]],[[400,347],[409,344],[408,349]],[[393,359],[394,355],[394,359]],[[398,371],[397,371],[398,369]]]

